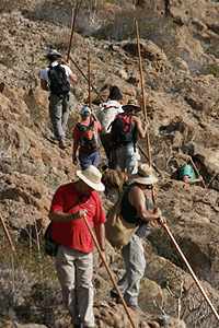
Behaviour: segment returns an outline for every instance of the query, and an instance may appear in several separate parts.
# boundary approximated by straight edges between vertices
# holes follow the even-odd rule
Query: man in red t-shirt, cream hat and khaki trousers
[[[56,270],[71,323],[74,328],[80,328],[81,324],[91,328],[94,327],[94,241],[84,216],[91,229],[94,226],[97,242],[105,255],[106,218],[96,192],[104,191],[105,187],[101,183],[100,171],[93,165],[84,171],[77,171],[76,174],[79,180],[60,186],[56,190],[48,218],[54,221],[51,238],[60,244],[56,254]],[[72,207],[79,198],[80,201]]]

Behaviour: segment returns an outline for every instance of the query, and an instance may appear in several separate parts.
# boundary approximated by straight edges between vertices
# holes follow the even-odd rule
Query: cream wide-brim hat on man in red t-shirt
[[[91,165],[83,171],[77,171],[76,175],[94,190],[105,190],[105,186],[101,181],[102,174],[95,166]]]

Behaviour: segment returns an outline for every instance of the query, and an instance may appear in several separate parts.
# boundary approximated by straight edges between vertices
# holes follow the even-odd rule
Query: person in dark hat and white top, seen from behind
[[[105,150],[106,156],[108,159],[108,167],[112,169],[116,168],[116,163],[113,161],[113,150],[111,144],[111,122],[114,118],[119,114],[123,113],[122,108],[122,99],[123,95],[118,86],[113,86],[111,89],[108,101],[103,103],[96,109],[96,117],[101,124],[101,131],[100,138],[102,145]]]

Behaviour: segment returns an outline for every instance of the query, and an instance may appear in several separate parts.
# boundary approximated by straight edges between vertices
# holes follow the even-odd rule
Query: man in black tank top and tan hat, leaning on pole
[[[165,219],[159,208],[154,211],[149,208],[149,199],[143,192],[146,189],[151,189],[153,184],[158,181],[158,178],[152,174],[152,167],[141,164],[138,173],[131,174],[130,178],[134,183],[128,186],[124,194],[120,214],[124,220],[136,223],[139,227],[130,242],[122,249],[126,272],[117,285],[126,304],[131,308],[137,308],[140,280],[146,268],[141,239],[150,220],[158,220],[159,224],[162,225],[165,223]],[[115,288],[111,291],[111,295],[118,301]]]

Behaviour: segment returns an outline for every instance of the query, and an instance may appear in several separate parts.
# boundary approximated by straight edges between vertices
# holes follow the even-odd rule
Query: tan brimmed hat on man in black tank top
[[[141,185],[153,185],[159,181],[159,179],[153,175],[152,167],[148,164],[141,164],[138,167],[138,173],[131,174],[130,178]]]

